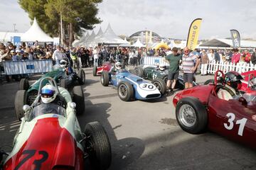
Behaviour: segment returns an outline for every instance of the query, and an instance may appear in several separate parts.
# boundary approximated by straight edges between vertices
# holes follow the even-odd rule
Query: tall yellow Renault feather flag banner
[[[198,42],[198,36],[199,36],[199,30],[201,26],[202,18],[196,18],[192,23],[188,30],[188,39],[186,46],[190,50],[195,50],[197,42]]]

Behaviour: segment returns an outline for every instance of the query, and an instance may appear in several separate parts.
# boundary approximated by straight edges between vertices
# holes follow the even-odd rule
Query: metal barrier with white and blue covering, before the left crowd
[[[53,70],[52,60],[6,61],[3,64],[6,75],[44,73]]]

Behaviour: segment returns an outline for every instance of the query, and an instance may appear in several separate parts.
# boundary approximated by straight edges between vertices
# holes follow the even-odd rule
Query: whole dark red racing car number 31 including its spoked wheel
[[[249,147],[256,145],[256,93],[246,97],[225,101],[218,98],[218,90],[223,86],[214,84],[194,86],[174,96],[176,120],[183,130],[191,134],[212,130],[231,140],[241,142]],[[245,94],[246,96],[246,94]]]

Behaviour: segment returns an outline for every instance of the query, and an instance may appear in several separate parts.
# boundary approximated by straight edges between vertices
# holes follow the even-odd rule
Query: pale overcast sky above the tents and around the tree
[[[230,38],[230,29],[242,39],[256,40],[255,0],[103,0],[97,6],[95,33],[108,23],[117,35],[132,35],[139,30],[152,30],[164,38],[186,39],[188,28],[196,18],[203,18],[199,40]],[[0,31],[26,32],[31,21],[17,0],[0,0]]]

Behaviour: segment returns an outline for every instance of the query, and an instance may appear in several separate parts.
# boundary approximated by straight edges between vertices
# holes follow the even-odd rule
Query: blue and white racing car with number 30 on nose
[[[164,80],[154,79],[149,82],[128,72],[126,69],[119,69],[115,73],[103,71],[100,81],[103,86],[109,84],[116,86],[117,94],[122,101],[160,98],[166,92]]]

